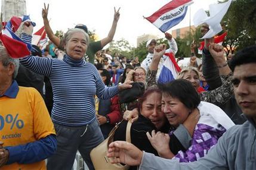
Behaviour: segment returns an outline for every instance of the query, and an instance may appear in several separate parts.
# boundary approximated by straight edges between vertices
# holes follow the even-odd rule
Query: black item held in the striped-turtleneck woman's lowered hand
[[[143,95],[145,91],[145,85],[141,82],[132,83],[131,89],[125,89],[119,92],[119,102],[129,103],[132,102]]]

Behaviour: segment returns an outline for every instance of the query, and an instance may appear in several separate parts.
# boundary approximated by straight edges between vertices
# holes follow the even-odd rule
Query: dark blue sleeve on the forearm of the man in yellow
[[[11,163],[34,163],[53,155],[57,149],[57,140],[54,134],[41,138],[38,141],[5,147],[10,153],[7,165]]]

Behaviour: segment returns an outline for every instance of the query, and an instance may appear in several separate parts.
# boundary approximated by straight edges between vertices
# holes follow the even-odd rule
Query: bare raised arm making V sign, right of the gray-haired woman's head
[[[109,30],[109,34],[107,35],[107,37],[100,40],[101,48],[106,46],[108,43],[112,42],[113,37],[115,35],[116,26],[118,25],[118,20],[119,20],[119,17],[120,17],[120,13],[119,13],[120,8],[118,9],[118,11],[116,11],[116,8],[114,8],[114,10],[115,10],[115,14],[114,14],[114,20],[113,20],[113,23],[112,23],[112,27]]]

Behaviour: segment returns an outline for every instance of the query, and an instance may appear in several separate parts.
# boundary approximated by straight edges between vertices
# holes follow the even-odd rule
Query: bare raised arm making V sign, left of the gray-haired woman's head
[[[55,36],[55,34],[53,33],[53,30],[51,30],[49,20],[47,18],[48,10],[49,10],[49,4],[47,5],[47,8],[44,4],[44,8],[42,8],[42,18],[44,20],[45,32],[47,33],[47,36],[51,40],[51,42],[53,42],[54,45],[59,47],[60,46],[60,38]]]

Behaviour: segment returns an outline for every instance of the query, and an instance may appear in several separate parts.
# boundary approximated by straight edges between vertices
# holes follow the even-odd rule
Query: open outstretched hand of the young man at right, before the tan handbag
[[[107,157],[111,163],[125,163],[130,166],[140,165],[143,152],[127,141],[114,141],[109,144]]]

